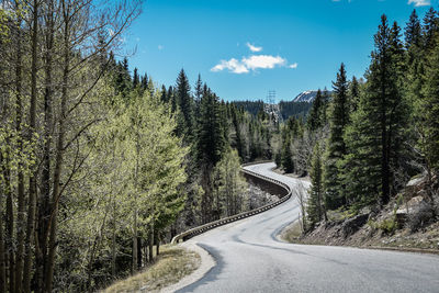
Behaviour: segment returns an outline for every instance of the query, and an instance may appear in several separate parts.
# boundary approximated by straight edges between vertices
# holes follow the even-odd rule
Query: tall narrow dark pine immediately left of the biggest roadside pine
[[[341,64],[337,74],[337,80],[333,83],[334,92],[329,117],[330,131],[324,169],[325,201],[328,209],[337,209],[346,204],[344,184],[340,182],[339,167],[337,165],[339,165],[346,155],[344,135],[350,116],[348,87],[345,65]]]

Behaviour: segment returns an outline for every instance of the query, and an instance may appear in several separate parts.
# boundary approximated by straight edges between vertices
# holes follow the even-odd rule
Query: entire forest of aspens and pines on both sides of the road
[[[439,13],[382,15],[363,77],[315,100],[226,101],[131,68],[140,0],[0,1],[0,292],[93,292],[177,234],[250,209],[240,165],[309,177],[306,230],[428,178],[439,218]],[[341,60],[340,60],[341,63]],[[324,88],[324,87],[323,87]]]

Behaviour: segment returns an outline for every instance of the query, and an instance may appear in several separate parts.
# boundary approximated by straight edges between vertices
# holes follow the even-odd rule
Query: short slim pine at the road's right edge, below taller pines
[[[322,149],[319,143],[316,143],[313,151],[313,159],[311,166],[311,189],[308,190],[308,200],[306,206],[306,214],[308,223],[313,228],[315,224],[326,218],[324,207],[324,184],[323,184],[323,169],[322,169]]]

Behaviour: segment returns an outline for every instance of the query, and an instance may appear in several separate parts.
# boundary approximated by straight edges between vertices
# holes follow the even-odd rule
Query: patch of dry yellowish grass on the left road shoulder
[[[200,256],[177,246],[164,246],[156,261],[142,272],[103,290],[113,292],[158,292],[179,282],[200,267]]]

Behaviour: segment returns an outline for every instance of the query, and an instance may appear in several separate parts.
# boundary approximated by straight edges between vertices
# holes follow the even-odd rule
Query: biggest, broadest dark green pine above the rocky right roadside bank
[[[350,198],[360,198],[363,203],[389,202],[404,140],[406,117],[399,91],[402,53],[396,26],[391,30],[386,16],[382,16],[365,90],[345,137],[350,153],[344,166],[345,184]]]

